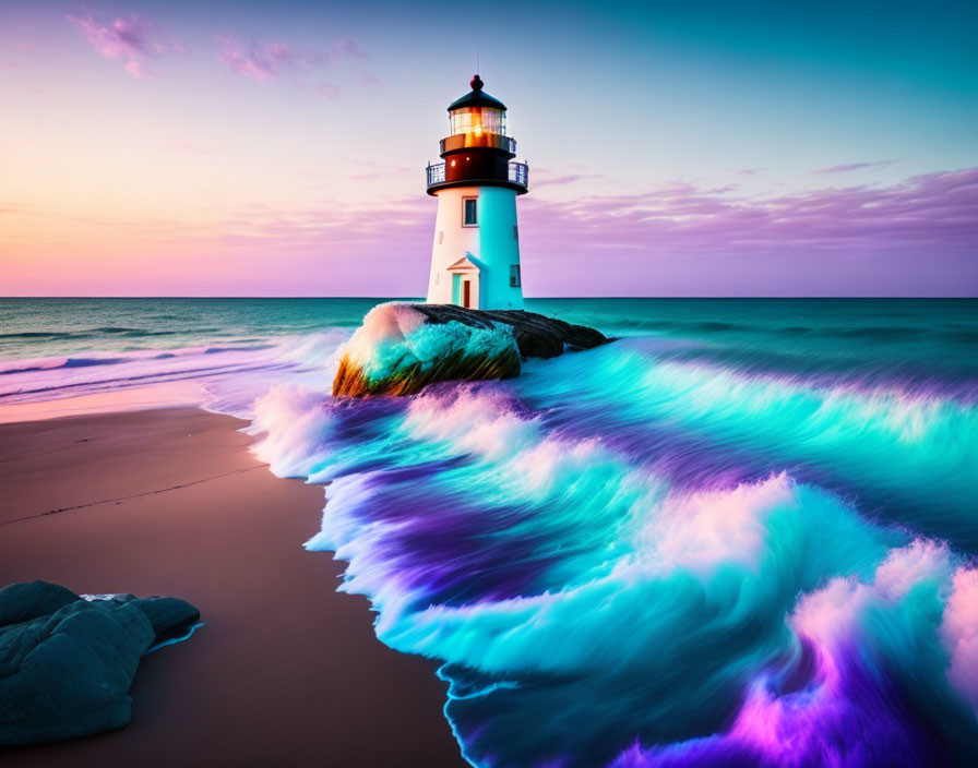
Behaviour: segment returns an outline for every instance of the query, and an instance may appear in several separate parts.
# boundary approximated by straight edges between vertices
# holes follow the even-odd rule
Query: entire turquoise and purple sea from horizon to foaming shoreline
[[[617,340],[334,400],[379,301],[2,299],[0,412],[248,419],[473,765],[978,761],[978,302],[528,300]]]

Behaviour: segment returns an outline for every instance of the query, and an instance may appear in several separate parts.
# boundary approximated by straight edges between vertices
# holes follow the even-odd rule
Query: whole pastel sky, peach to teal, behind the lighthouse
[[[527,296],[976,296],[976,38],[974,2],[0,0],[0,296],[421,296],[477,65]]]

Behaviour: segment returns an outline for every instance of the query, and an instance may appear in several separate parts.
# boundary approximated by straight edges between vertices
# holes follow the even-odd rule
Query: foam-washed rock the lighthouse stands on
[[[509,379],[524,358],[608,341],[594,328],[522,310],[379,304],[342,350],[333,395],[414,395],[434,382]]]

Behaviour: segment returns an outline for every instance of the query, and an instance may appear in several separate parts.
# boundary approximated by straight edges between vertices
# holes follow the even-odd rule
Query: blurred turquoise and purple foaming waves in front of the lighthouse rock
[[[474,765],[978,759],[974,405],[616,344],[512,383],[279,386],[307,548],[442,662]]]

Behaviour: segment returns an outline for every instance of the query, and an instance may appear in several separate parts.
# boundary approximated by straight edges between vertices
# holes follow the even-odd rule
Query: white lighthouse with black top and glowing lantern
[[[428,194],[438,197],[428,303],[522,310],[516,196],[526,194],[528,169],[513,160],[505,105],[479,75],[449,105],[443,161],[428,165]]]

